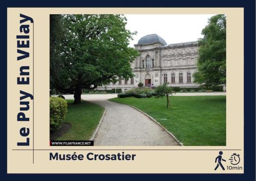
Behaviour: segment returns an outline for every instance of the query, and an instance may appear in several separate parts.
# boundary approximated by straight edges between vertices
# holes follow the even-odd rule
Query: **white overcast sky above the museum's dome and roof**
[[[214,14],[125,14],[126,29],[137,31],[130,41],[134,47],[145,35],[157,34],[167,44],[196,41],[202,38],[202,29],[207,25],[208,18]]]

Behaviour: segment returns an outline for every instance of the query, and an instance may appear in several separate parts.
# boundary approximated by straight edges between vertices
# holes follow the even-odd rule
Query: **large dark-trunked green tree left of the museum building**
[[[133,77],[130,63],[139,56],[129,41],[136,32],[125,29],[123,15],[51,15],[51,85],[62,93],[74,94],[81,102],[82,89]],[[54,24],[55,23],[55,24]]]

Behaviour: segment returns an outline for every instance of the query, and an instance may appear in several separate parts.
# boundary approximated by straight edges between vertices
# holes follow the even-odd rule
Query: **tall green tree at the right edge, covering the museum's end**
[[[206,87],[226,84],[226,15],[212,16],[202,34],[195,82]]]

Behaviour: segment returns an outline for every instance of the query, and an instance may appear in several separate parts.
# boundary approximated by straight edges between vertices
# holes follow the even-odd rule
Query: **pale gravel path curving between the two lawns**
[[[109,100],[90,100],[106,108],[94,139],[96,146],[178,146],[177,141],[144,114]]]

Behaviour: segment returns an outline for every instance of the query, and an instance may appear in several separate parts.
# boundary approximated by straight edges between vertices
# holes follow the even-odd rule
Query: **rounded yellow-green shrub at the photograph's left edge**
[[[67,101],[60,97],[50,97],[50,131],[57,131],[61,127],[68,111]]]

